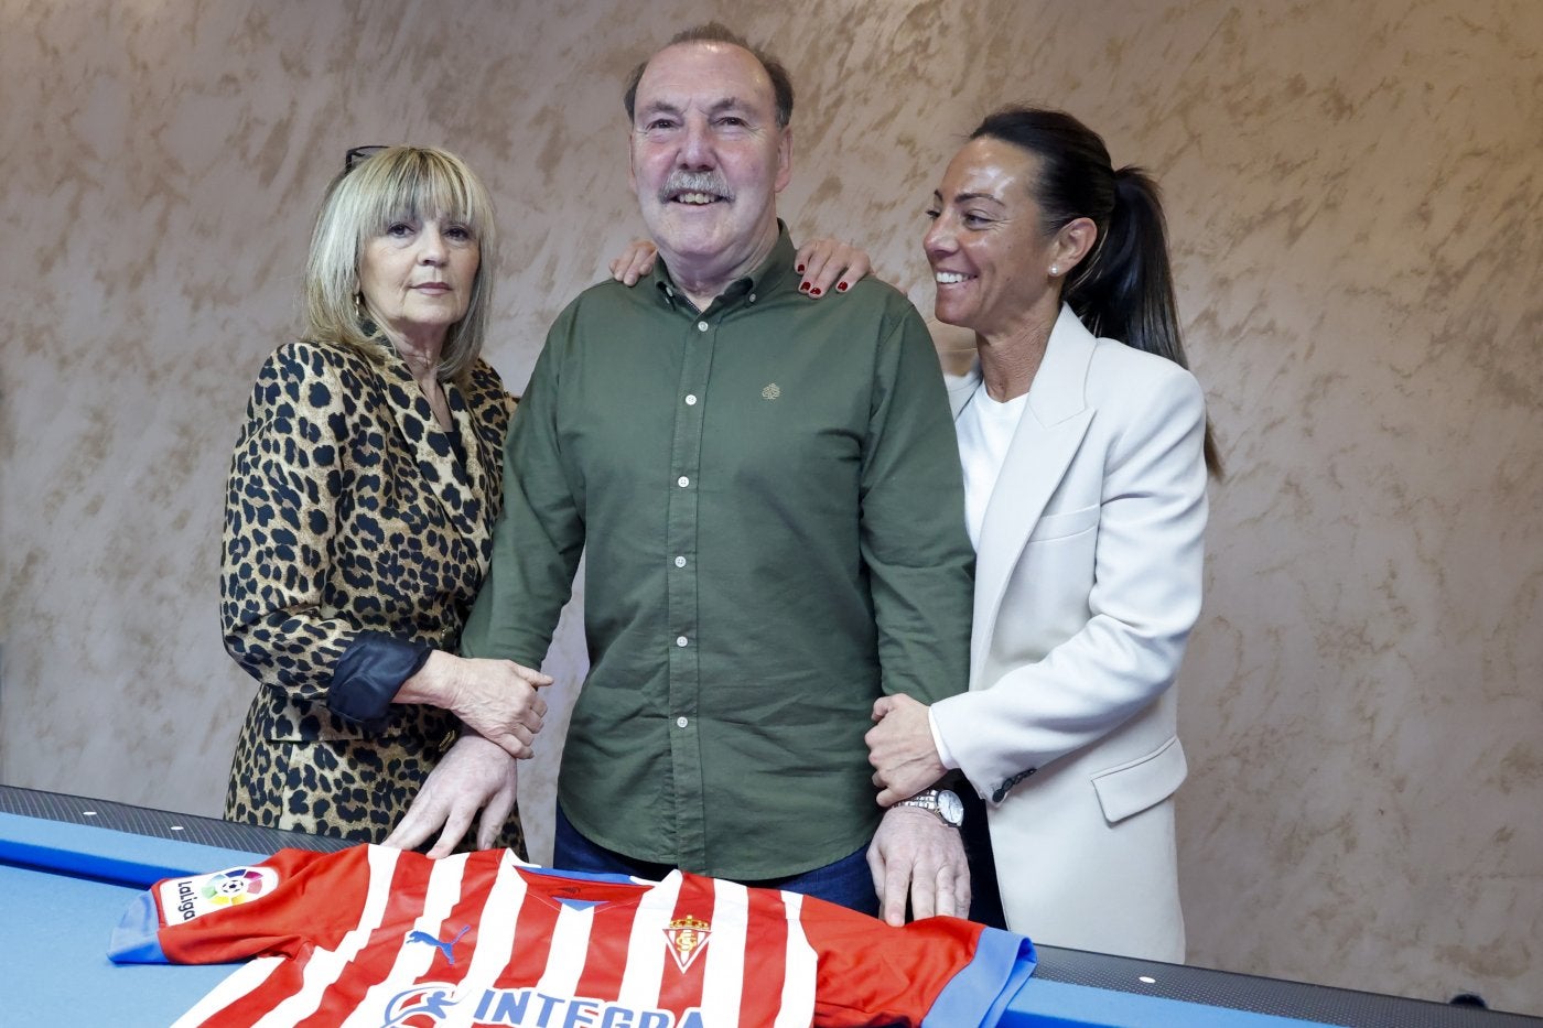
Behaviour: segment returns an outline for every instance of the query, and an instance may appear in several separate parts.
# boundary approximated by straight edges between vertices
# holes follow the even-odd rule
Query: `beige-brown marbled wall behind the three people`
[[[1231,471],[1182,681],[1191,960],[1543,1013],[1543,5],[565,6],[0,0],[0,778],[218,810],[225,463],[343,150],[483,173],[522,383],[639,225],[625,71],[719,14],[801,86],[784,215],[923,309],[921,210],[995,103],[1165,185]]]

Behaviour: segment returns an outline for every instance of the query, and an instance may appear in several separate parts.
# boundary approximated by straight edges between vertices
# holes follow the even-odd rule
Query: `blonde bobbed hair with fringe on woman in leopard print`
[[[497,228],[488,188],[446,150],[389,147],[333,179],[306,261],[307,338],[375,352],[358,304],[364,244],[392,222],[429,218],[464,225],[480,250],[466,315],[446,332],[437,372],[440,381],[464,380],[488,335]]]

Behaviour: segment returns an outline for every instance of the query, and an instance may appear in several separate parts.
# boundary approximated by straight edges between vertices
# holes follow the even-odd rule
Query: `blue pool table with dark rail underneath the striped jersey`
[[[252,863],[292,835],[120,803],[0,786],[0,1000],[5,1025],[164,1026],[225,966],[117,966],[106,943],[134,895],[171,875]],[[1001,1028],[1508,1028],[1543,1020],[1040,946]]]

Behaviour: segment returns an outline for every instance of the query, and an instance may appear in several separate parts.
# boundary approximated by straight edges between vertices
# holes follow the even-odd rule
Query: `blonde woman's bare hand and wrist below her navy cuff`
[[[403,682],[393,702],[449,710],[485,741],[525,759],[546,716],[546,701],[535,690],[551,684],[549,675],[514,661],[458,658],[435,650],[423,668]]]

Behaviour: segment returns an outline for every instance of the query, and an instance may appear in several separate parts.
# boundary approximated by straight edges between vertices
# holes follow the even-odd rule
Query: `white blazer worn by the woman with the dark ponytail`
[[[950,380],[955,417],[978,386]],[[1200,611],[1204,434],[1190,372],[1062,307],[986,508],[971,687],[932,705],[1035,942],[1183,960],[1170,685]]]

